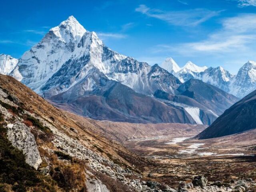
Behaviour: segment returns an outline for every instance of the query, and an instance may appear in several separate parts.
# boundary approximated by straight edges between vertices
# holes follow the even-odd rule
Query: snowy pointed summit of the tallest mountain
[[[70,36],[77,41],[82,38],[86,29],[74,18],[69,16],[67,20],[62,21],[58,26],[51,28],[50,31],[60,38],[60,40],[68,43]]]

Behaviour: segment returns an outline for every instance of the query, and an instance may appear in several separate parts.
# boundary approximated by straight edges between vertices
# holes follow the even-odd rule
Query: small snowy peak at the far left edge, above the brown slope
[[[18,64],[18,59],[10,55],[0,54],[0,74],[9,75]]]

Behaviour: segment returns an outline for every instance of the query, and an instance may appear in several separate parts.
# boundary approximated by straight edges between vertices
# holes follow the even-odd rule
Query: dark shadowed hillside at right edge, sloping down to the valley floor
[[[198,138],[221,137],[254,128],[256,128],[256,91],[227,109],[210,127],[198,134]]]

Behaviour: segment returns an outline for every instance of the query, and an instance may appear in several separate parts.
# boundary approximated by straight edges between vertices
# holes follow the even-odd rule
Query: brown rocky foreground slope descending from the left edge
[[[105,138],[99,125],[77,122],[10,76],[0,75],[0,112],[1,190],[159,189],[140,174],[150,162]]]

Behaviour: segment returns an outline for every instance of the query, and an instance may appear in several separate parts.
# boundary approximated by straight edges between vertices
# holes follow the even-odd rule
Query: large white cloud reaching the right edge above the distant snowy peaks
[[[198,42],[176,46],[158,45],[155,52],[163,50],[177,51],[182,54],[193,52],[223,53],[252,50],[256,43],[256,14],[242,14],[222,20],[222,29]]]

